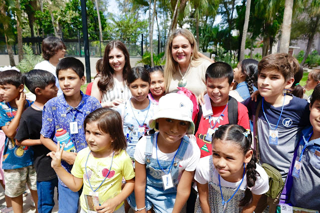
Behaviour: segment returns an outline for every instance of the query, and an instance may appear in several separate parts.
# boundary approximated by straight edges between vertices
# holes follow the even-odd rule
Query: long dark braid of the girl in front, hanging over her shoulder
[[[244,197],[240,200],[239,206],[247,206],[252,201],[252,193],[251,188],[254,186],[256,181],[256,176],[259,175],[259,173],[255,170],[256,168],[256,156],[255,156],[255,150],[253,150],[253,154],[251,157],[251,160],[246,165],[246,184],[247,188],[244,191]]]

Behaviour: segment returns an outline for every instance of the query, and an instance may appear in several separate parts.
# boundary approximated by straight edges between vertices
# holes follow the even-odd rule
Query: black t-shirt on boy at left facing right
[[[19,141],[23,139],[40,139],[41,125],[42,111],[28,107],[21,115],[15,138]],[[45,181],[55,178],[56,173],[51,167],[51,157],[46,156],[50,150],[44,145],[33,145],[32,148],[34,151],[36,180]]]

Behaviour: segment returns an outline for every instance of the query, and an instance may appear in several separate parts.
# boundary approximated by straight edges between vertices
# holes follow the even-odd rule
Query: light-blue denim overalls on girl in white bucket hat
[[[174,187],[163,190],[161,176],[164,174],[160,168],[157,159],[152,158],[153,136],[157,133],[146,136],[145,145],[145,169],[146,169],[146,185],[145,185],[145,206],[149,210],[153,206],[155,212],[172,212],[175,202],[176,188],[178,184],[179,161],[183,159],[183,155],[190,143],[187,136],[183,136],[181,145],[175,155],[172,168],[170,170]],[[158,160],[164,171],[167,173],[172,160]],[[128,197],[128,203],[135,209],[134,191]]]

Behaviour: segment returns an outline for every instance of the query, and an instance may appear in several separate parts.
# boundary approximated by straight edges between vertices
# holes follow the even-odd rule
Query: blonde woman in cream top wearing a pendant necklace
[[[206,89],[205,71],[211,62],[199,55],[195,38],[188,29],[176,29],[171,33],[165,53],[166,92],[185,87],[198,96]]]

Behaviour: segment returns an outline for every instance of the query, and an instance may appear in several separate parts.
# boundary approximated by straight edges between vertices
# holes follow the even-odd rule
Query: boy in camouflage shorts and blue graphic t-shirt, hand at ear
[[[0,126],[6,135],[3,151],[5,194],[11,197],[14,212],[22,213],[22,193],[27,183],[35,208],[37,203],[36,174],[33,166],[33,150],[28,146],[18,146],[14,136],[24,108],[30,106],[25,100],[23,79],[20,72],[6,70],[0,72]],[[36,210],[37,212],[37,210]]]

